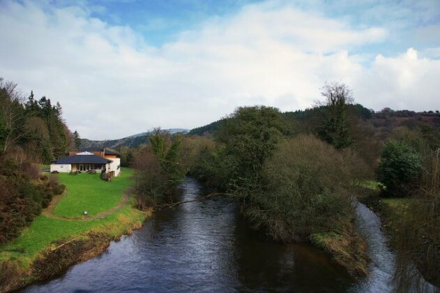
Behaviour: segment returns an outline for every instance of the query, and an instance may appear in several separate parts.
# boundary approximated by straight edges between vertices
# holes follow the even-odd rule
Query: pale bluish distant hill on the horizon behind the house
[[[188,129],[184,128],[169,128],[164,129],[171,134],[175,133],[188,133]],[[81,147],[108,147],[111,149],[116,149],[118,147],[139,147],[141,144],[146,144],[146,137],[151,133],[147,131],[145,133],[137,133],[135,135],[130,135],[128,137],[123,137],[118,140],[87,140],[81,139]]]

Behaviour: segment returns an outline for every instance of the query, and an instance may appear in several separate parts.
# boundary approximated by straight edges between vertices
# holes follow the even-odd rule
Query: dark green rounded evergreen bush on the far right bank
[[[379,163],[379,181],[386,186],[384,195],[408,195],[420,178],[420,167],[420,156],[414,149],[397,140],[386,142]]]

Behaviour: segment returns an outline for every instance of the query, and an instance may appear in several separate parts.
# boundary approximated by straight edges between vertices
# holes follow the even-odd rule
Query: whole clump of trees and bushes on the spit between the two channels
[[[314,243],[355,276],[367,273],[351,201],[352,182],[372,172],[356,153],[298,133],[271,107],[238,108],[213,135],[199,147],[192,176],[236,198],[251,225],[275,241]]]

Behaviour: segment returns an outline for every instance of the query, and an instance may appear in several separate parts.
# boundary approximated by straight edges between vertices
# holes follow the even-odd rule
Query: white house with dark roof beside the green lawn
[[[105,172],[111,177],[121,172],[119,153],[99,147],[69,151],[69,156],[59,158],[50,165],[50,172]]]

